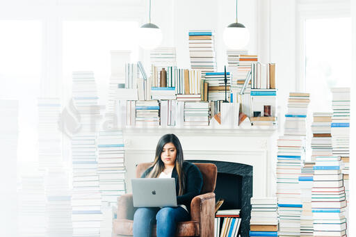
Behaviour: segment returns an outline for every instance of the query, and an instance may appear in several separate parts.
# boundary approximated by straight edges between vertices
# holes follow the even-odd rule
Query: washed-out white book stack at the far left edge
[[[18,140],[18,113],[19,102],[17,100],[0,99],[0,144],[1,154],[6,157],[6,162],[1,164],[1,230],[7,236],[18,235],[18,182],[19,174],[17,159]],[[5,160],[4,160],[5,161]],[[19,225],[21,227],[21,225]]]

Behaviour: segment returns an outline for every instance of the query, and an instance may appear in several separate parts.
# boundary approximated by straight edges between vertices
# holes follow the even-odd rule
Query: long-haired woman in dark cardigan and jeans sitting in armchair
[[[191,219],[189,213],[193,197],[202,190],[200,170],[184,161],[181,143],[175,134],[165,134],[156,147],[154,163],[141,178],[175,178],[177,207],[142,207],[133,216],[133,236],[151,236],[156,222],[157,237],[175,236],[177,222]]]

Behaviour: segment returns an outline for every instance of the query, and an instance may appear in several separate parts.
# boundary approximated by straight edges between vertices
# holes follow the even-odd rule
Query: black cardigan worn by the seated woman
[[[149,172],[151,172],[153,167],[149,167],[145,172],[143,172],[141,178],[145,178]],[[178,174],[177,170],[174,167],[172,170],[172,178],[175,178],[175,190],[177,193],[177,204],[184,204],[188,209],[188,212],[191,212],[191,202],[192,199],[200,195],[203,186],[203,177],[200,170],[193,163],[184,161],[183,163],[183,172],[186,177],[186,190],[184,190],[184,195],[178,196],[179,193],[179,183],[178,183]]]

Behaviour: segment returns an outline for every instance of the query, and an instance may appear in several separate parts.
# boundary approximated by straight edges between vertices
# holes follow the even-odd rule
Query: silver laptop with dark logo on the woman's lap
[[[131,179],[133,206],[177,206],[175,178]]]

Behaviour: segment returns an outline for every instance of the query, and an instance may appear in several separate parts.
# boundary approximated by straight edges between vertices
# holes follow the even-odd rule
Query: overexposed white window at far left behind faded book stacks
[[[0,21],[0,99],[19,101],[19,164],[38,161],[38,97],[42,73],[42,24]]]

